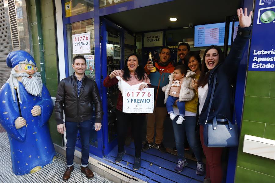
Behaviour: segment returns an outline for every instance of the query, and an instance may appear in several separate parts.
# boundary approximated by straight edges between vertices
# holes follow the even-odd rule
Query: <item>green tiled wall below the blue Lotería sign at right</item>
[[[275,182],[275,161],[244,153],[244,135],[275,140],[275,72],[248,71],[235,183]]]

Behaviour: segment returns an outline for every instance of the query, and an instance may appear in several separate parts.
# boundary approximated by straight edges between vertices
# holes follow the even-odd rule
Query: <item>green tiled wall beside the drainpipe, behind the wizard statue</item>
[[[56,52],[56,34],[54,25],[54,9],[53,0],[41,0],[41,23],[42,23],[42,36],[43,36],[43,47],[44,47],[44,63],[46,72],[46,86],[52,97],[56,96],[56,90],[58,86],[58,72],[57,72],[57,52]],[[38,31],[37,31],[37,17],[35,12],[35,0],[30,0],[30,16],[31,16],[31,31],[33,39],[33,51],[34,59],[37,67],[40,71],[39,64],[39,45],[38,45]],[[57,132],[56,121],[54,113],[49,120],[50,134],[53,143],[63,146],[62,135]]]

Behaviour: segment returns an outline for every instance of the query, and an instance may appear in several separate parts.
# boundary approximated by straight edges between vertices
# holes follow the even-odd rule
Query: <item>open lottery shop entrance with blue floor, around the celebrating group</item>
[[[226,25],[226,17],[230,27],[228,44],[224,46],[224,39],[220,38],[218,39],[218,42],[213,42],[210,45],[220,45],[227,53],[227,51],[230,50],[230,44],[234,37],[234,24],[232,22],[235,20],[233,17],[236,14],[236,9],[242,6],[241,3],[243,2],[236,0],[228,5],[226,2],[216,1],[214,3],[215,5],[213,5],[213,3],[210,4],[205,1],[187,3],[181,0],[175,0],[101,16],[102,78],[104,79],[113,70],[122,69],[124,67],[124,61],[130,53],[138,54],[141,60],[140,63],[145,65],[148,60],[148,53],[152,52],[154,57],[158,58],[160,47],[162,46],[169,46],[171,48],[172,52],[170,61],[176,63],[179,60],[177,49],[180,42],[189,43],[191,51],[197,51],[202,57],[204,50],[208,45],[197,45],[196,42],[194,42],[194,39],[196,39],[194,26],[205,27],[208,24],[221,26],[218,27],[218,29],[220,31],[220,36],[222,37],[226,35],[225,31],[227,28],[223,27]],[[248,3],[248,5],[252,6],[252,2]],[[171,22],[169,20],[171,17],[176,17],[178,20],[176,22]],[[237,23],[235,24],[235,27],[236,26]],[[152,35],[157,36],[156,38],[160,38],[160,41],[158,42],[159,44],[150,45]],[[237,88],[237,90],[240,90],[240,96],[236,95],[236,97],[239,98],[243,98],[242,87],[244,87],[245,72],[246,68],[238,73],[237,85],[239,88]],[[117,98],[117,86],[111,88],[105,88],[102,86],[102,99],[105,114],[104,123],[108,124],[108,127],[106,126],[103,132],[103,152],[106,162],[112,163],[112,166],[134,175],[135,177],[141,178],[144,181],[149,181],[149,179],[155,182],[179,182],[179,180],[182,180],[180,182],[203,181],[203,177],[197,176],[195,173],[196,162],[194,157],[192,157],[192,150],[185,152],[186,157],[190,162],[189,166],[185,169],[186,172],[175,172],[174,168],[178,157],[177,152],[173,150],[175,147],[174,132],[171,120],[168,116],[164,122],[163,139],[163,144],[167,148],[167,153],[161,153],[154,148],[142,152],[141,169],[138,171],[132,170],[134,143],[133,140],[129,141],[129,138],[131,137],[131,129],[129,129],[128,141],[126,142],[129,146],[125,146],[127,153],[123,157],[121,163],[113,163],[117,154],[115,112]],[[242,103],[237,105],[242,106]],[[143,140],[146,141],[146,125],[143,126],[141,133]],[[231,152],[229,152],[229,159],[234,159],[230,153]],[[236,154],[236,152],[234,153]],[[228,159],[228,157],[226,157],[226,159]],[[230,163],[228,164],[230,169],[235,170],[235,166],[234,163],[232,165],[230,165]],[[232,175],[232,171],[230,172],[227,170],[224,174]],[[230,182],[230,180],[227,181]]]

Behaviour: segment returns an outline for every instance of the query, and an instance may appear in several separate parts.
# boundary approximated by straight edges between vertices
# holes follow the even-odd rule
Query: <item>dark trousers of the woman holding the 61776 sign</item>
[[[117,115],[117,141],[118,152],[123,152],[128,126],[132,123],[132,133],[135,142],[135,157],[141,156],[142,138],[141,129],[145,120],[145,115],[124,113],[116,110]]]

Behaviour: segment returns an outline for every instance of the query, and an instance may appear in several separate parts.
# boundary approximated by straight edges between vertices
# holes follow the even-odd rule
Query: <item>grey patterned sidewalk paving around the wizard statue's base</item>
[[[2,126],[0,125],[0,130]],[[3,131],[3,130],[2,130]],[[1,132],[2,132],[1,131]],[[39,182],[65,182],[62,180],[63,173],[66,168],[66,158],[57,154],[57,159],[43,167],[40,171],[33,174],[26,174],[22,176],[16,176],[12,171],[11,157],[10,157],[10,148],[9,148],[9,139],[6,132],[0,132],[0,182],[26,182],[26,183],[39,183]],[[101,177],[100,175],[94,172],[94,178],[88,179],[80,171],[81,165],[74,163],[74,171],[71,174],[71,178],[66,181],[66,183],[75,183],[75,182],[99,182],[99,183],[112,183],[106,178]]]

